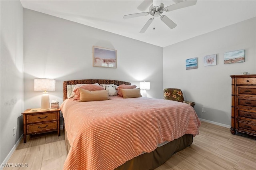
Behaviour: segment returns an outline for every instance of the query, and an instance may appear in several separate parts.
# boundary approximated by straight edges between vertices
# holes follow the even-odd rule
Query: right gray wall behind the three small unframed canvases
[[[256,18],[164,47],[163,88],[182,89],[194,101],[201,119],[231,125],[231,78],[256,73]],[[224,64],[224,53],[245,49],[245,62]],[[217,54],[217,65],[204,66],[204,56]],[[198,58],[198,69],[186,70],[185,60]],[[202,108],[205,113],[202,113]]]

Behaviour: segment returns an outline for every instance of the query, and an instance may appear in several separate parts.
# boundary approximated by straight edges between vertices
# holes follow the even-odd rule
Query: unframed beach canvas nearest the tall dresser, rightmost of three
[[[244,49],[224,53],[224,64],[244,62]]]

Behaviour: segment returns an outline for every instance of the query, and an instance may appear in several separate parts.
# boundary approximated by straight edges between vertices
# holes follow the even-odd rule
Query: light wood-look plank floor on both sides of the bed
[[[256,170],[256,139],[233,135],[229,128],[202,122],[191,146],[178,152],[155,170]],[[63,130],[34,135],[23,140],[8,163],[26,170],[61,170],[66,159]]]

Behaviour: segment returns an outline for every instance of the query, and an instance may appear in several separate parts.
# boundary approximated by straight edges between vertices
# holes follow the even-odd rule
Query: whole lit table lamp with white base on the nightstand
[[[55,91],[55,79],[34,79],[34,91],[44,91],[41,99],[41,109],[51,109],[50,97],[46,91]]]

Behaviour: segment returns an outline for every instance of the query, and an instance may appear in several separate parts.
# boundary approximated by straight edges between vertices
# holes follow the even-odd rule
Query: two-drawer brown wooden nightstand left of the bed
[[[27,109],[22,115],[24,143],[28,134],[58,131],[60,136],[60,109]]]

